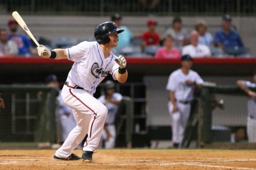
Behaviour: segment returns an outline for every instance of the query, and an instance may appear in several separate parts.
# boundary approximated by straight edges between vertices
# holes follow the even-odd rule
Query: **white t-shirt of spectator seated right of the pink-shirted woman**
[[[182,55],[190,55],[191,57],[205,57],[211,55],[210,48],[203,44],[198,44],[196,47],[192,44],[184,46],[182,49]]]

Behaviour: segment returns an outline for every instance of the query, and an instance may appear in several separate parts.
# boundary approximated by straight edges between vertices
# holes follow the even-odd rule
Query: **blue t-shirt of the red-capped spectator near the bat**
[[[17,44],[17,47],[19,48],[19,55],[30,54],[29,47],[31,46],[31,42],[27,36],[22,34],[15,34],[9,35],[8,39],[13,40]]]

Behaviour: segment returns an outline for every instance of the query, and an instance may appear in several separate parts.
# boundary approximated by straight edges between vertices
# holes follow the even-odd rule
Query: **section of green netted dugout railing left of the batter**
[[[0,85],[0,93],[5,102],[0,110],[0,142],[55,143],[55,88]]]

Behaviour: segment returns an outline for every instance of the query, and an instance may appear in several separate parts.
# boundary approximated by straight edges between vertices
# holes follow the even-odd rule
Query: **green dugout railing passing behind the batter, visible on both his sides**
[[[58,91],[55,88],[47,85],[6,84],[0,85],[0,93],[5,102],[5,109],[0,109],[1,145],[60,141],[60,120],[56,113]],[[133,134],[133,99],[123,97],[118,112],[116,124],[117,138],[121,138],[119,145],[130,148]]]

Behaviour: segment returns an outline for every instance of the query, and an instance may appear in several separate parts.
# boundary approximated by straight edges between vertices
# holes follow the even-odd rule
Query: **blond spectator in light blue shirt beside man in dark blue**
[[[199,34],[198,44],[206,45],[211,48],[211,46],[213,46],[213,37],[211,36],[211,33],[207,32],[207,25],[205,21],[197,22],[195,29]]]

